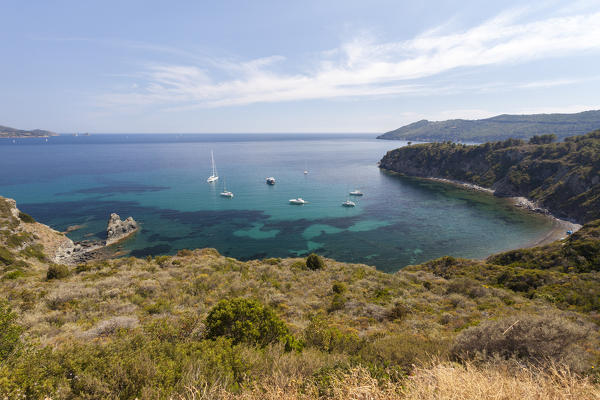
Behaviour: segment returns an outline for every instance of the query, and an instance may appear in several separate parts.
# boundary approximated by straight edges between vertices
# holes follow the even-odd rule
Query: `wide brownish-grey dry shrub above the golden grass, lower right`
[[[460,333],[452,346],[455,358],[516,358],[532,363],[560,361],[581,370],[580,347],[589,330],[557,316],[522,315],[486,321]]]

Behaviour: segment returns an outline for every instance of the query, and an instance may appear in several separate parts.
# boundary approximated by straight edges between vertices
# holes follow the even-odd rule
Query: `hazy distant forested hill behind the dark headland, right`
[[[563,139],[596,129],[600,129],[600,110],[576,114],[503,114],[478,120],[424,119],[384,133],[377,139],[483,143],[507,138],[529,139],[543,134],[555,134]]]

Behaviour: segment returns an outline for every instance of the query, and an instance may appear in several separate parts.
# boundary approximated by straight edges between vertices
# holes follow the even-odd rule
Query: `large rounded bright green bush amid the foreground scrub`
[[[258,301],[236,298],[221,300],[206,317],[206,337],[230,338],[234,344],[264,347],[282,339],[288,328],[269,307]]]

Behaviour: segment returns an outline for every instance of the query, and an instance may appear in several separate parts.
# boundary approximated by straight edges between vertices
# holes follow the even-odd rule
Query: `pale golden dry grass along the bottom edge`
[[[311,384],[257,385],[234,394],[219,387],[188,389],[185,400],[307,400],[319,398]],[[334,379],[332,400],[594,400],[600,387],[558,366],[548,370],[492,364],[476,367],[439,363],[417,368],[401,384],[379,385],[369,372],[355,368]]]

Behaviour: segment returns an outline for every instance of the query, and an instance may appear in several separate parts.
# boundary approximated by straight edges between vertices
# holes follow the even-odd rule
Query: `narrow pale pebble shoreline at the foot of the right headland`
[[[494,189],[486,188],[483,186],[478,186],[478,185],[475,185],[472,183],[456,181],[456,180],[452,180],[452,179],[445,179],[445,178],[423,178],[423,179],[434,181],[434,182],[451,184],[454,186],[459,186],[463,189],[484,192],[484,193],[488,193],[491,195],[493,195],[495,193]],[[550,220],[552,221],[552,229],[550,229],[550,231],[546,235],[544,235],[540,239],[537,239],[533,242],[525,244],[523,246],[523,248],[544,246],[544,245],[550,244],[552,242],[555,242],[557,240],[564,239],[567,236],[567,233],[566,233],[567,231],[577,232],[579,229],[581,229],[581,226],[582,226],[581,224],[578,224],[578,223],[575,223],[573,221],[569,221],[566,219],[558,218],[557,216],[550,213],[548,210],[538,207],[535,204],[535,202],[531,199],[528,199],[526,197],[521,197],[521,196],[506,197],[506,199],[508,201],[510,201],[511,204],[515,207],[522,208],[522,209],[527,210],[532,213],[545,215],[546,217],[550,218]]]

